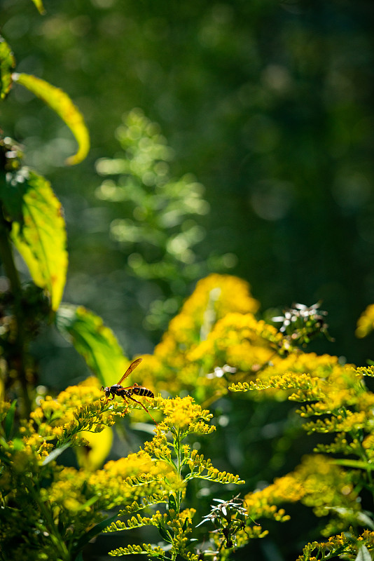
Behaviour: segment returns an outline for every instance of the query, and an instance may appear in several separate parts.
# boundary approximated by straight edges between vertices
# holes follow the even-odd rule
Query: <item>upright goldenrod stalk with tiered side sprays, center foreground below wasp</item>
[[[116,532],[141,526],[153,525],[163,541],[164,548],[143,544],[140,546],[126,546],[111,550],[109,555],[117,557],[143,553],[149,557],[157,556],[159,559],[175,561],[179,555],[184,559],[197,561],[198,555],[188,550],[191,544],[189,534],[193,531],[192,518],[194,508],[182,508],[186,495],[186,486],[192,479],[204,479],[223,484],[244,483],[238,475],[221,472],[212,466],[209,459],[203,454],[193,450],[186,439],[190,435],[209,435],[215,427],[209,425],[212,414],[202,410],[200,405],[193,402],[191,397],[163,400],[158,398],[158,407],[165,414],[164,420],[155,427],[155,437],[151,442],[146,442],[144,452],[153,462],[153,466],[160,470],[160,485],[163,492],[158,496],[147,494],[148,480],[134,478],[134,486],[142,485],[143,496],[139,503],[132,504],[120,511],[120,517],[140,511],[152,503],[164,503],[165,512],[156,511],[151,516],[141,516],[139,513],[125,522],[117,521],[107,527],[104,532]]]

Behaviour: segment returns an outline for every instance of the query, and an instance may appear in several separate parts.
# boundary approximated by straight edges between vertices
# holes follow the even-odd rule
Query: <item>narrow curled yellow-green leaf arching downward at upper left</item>
[[[81,111],[71,101],[69,95],[52,86],[50,83],[30,74],[13,73],[13,80],[25,86],[29,91],[40,97],[67,124],[78,142],[78,151],[67,158],[66,163],[73,165],[84,160],[90,149],[90,136],[85,126]]]

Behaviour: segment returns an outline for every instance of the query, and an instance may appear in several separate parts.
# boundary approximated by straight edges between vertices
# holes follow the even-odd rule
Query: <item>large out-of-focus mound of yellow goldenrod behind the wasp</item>
[[[282,347],[275,327],[254,318],[257,309],[243,280],[218,274],[200,280],[143,361],[142,384],[169,395],[183,389],[200,403],[227,393],[227,379],[261,370]]]

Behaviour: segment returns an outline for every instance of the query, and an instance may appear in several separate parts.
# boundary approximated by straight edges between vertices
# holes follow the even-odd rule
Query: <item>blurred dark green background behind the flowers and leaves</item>
[[[321,299],[335,343],[315,348],[358,364],[373,358],[370,338],[354,337],[356,319],[374,302],[373,2],[45,7],[41,16],[31,2],[3,0],[1,32],[18,72],[59,86],[81,109],[90,155],[64,167],[75,149],[71,133],[20,86],[0,107],[1,128],[22,142],[26,163],[64,205],[65,299],[102,316],[133,356],[152,350],[197,278],[228,272],[249,280],[262,313]],[[118,220],[144,222],[139,205],[97,196],[108,177],[96,163],[125,161],[116,130],[134,107],[165,136],[169,179],[193,174],[205,187],[204,210],[173,224],[174,234],[192,228],[193,251],[164,279],[160,271],[137,276],[131,264],[144,245],[113,236]],[[152,182],[146,187],[151,193]],[[151,262],[170,257],[167,244],[159,249],[155,257],[149,245]],[[48,337],[35,353],[48,384],[62,388],[67,372],[82,377],[83,362]],[[56,344],[60,351],[49,352]]]

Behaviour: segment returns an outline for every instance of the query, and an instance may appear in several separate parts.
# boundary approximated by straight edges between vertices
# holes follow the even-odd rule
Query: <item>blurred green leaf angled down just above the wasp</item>
[[[56,314],[56,326],[83,356],[103,386],[118,381],[127,359],[102,318],[83,306],[62,304]]]

